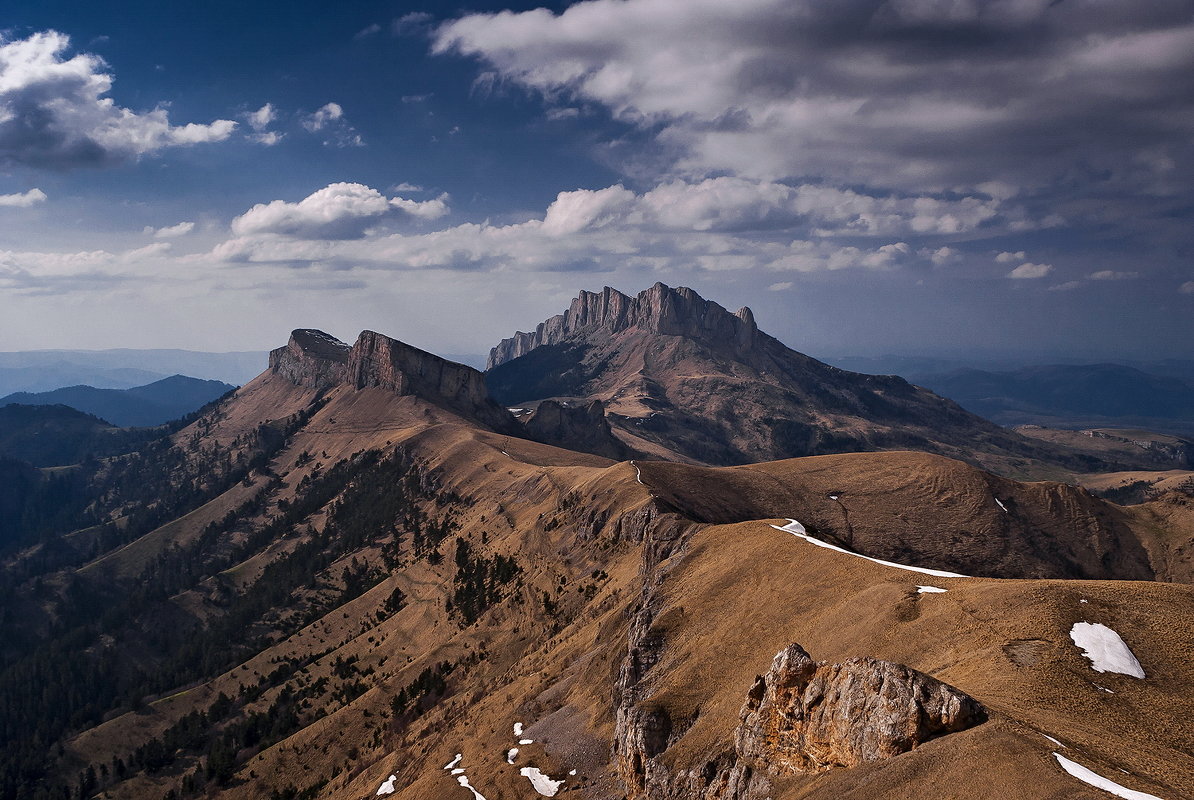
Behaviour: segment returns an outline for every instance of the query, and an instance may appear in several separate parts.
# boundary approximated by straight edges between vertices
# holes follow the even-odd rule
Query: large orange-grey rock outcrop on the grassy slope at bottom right
[[[773,775],[820,773],[891,758],[985,720],[978,701],[903,664],[814,661],[793,644],[747,693],[734,747]]]

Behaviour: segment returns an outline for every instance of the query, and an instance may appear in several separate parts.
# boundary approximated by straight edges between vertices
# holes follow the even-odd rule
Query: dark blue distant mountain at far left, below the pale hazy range
[[[184,417],[235,387],[220,381],[201,381],[173,375],[129,389],[97,389],[70,386],[53,392],[18,392],[0,398],[0,406],[62,405],[100,417],[121,427],[148,427]]]

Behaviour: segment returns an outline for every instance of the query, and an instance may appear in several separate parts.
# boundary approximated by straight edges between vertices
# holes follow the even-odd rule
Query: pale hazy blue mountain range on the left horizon
[[[128,389],[170,375],[241,384],[265,367],[264,351],[26,350],[0,352],[0,396],[66,386]]]

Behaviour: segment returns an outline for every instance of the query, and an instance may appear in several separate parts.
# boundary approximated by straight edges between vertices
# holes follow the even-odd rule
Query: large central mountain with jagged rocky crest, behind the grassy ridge
[[[698,463],[911,449],[1014,472],[1069,457],[900,377],[790,350],[749,308],[730,313],[663,283],[634,297],[580,293],[564,314],[499,343],[486,381],[507,406],[601,400],[627,447]]]

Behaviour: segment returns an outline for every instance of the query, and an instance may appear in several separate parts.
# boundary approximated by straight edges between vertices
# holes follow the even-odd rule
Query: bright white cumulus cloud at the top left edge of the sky
[[[236,123],[173,125],[166,109],[135,112],[105,97],[112,75],[91,54],[67,57],[57,31],[0,39],[0,162],[72,168],[137,158],[168,147],[228,139]]]

